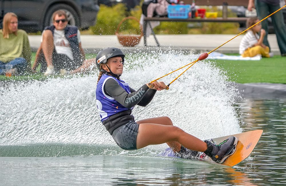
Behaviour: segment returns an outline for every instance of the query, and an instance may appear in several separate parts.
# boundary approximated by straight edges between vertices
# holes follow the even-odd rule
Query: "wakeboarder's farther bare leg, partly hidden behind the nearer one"
[[[173,126],[173,122],[169,117],[157,117],[157,118],[148,118],[144,120],[137,121],[136,123],[154,123],[154,124],[161,124],[161,125],[170,125]],[[179,152],[181,149],[181,144],[176,141],[169,141],[167,145],[174,151]]]

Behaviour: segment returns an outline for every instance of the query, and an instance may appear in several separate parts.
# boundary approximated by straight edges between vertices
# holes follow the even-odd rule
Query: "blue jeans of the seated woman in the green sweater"
[[[18,73],[23,74],[27,68],[27,61],[25,58],[15,58],[7,63],[0,61],[0,75],[5,74],[5,72],[12,68],[17,68]]]

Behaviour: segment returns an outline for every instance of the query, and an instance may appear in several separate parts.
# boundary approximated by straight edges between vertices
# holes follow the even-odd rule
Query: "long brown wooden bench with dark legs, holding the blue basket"
[[[196,5],[199,6],[223,6],[223,9],[227,10],[228,5],[233,6],[247,6],[248,0],[241,1],[227,1],[226,0],[200,0],[196,1]],[[191,4],[192,0],[185,0],[185,4]],[[147,46],[147,25],[151,28],[152,35],[156,41],[158,47],[160,47],[159,41],[156,38],[156,35],[151,27],[150,21],[170,21],[170,22],[235,22],[235,23],[245,23],[247,21],[247,17],[227,17],[227,11],[223,11],[223,17],[218,18],[188,18],[188,19],[170,19],[168,17],[145,17],[143,23],[143,35],[144,35],[144,46]]]

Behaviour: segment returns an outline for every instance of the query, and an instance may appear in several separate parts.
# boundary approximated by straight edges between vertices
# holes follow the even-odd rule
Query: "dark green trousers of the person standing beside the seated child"
[[[264,17],[268,16],[269,14],[275,12],[280,8],[280,5],[271,5],[260,0],[255,0],[255,7],[257,10],[257,15],[259,19],[263,19]],[[282,54],[286,54],[286,26],[284,23],[283,13],[282,11],[278,11],[275,14],[271,15],[272,23],[274,26],[274,31],[277,37],[278,46]],[[267,40],[268,34],[268,21],[264,20],[261,22],[262,28],[265,29],[266,35],[263,39],[263,44],[269,46]]]

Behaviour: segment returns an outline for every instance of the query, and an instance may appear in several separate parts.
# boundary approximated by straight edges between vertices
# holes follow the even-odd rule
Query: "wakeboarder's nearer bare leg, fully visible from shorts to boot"
[[[205,142],[184,132],[176,126],[140,123],[136,141],[137,149],[170,141],[177,141],[187,149],[193,151],[204,152],[207,149]]]

